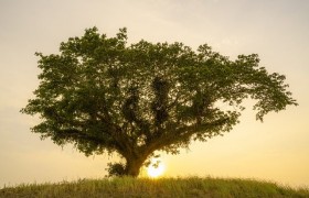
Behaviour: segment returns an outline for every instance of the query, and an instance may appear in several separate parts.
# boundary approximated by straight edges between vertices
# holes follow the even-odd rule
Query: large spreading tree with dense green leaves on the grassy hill
[[[118,153],[125,164],[111,165],[111,174],[138,176],[154,151],[177,154],[231,131],[246,98],[260,121],[297,105],[285,76],[258,66],[256,54],[231,61],[209,45],[129,45],[126,29],[115,37],[87,29],[61,43],[60,54],[36,55],[40,86],[22,109],[40,114],[32,131],[86,155]]]

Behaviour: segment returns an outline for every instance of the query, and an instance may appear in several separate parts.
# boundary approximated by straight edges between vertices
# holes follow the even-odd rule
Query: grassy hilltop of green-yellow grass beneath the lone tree
[[[307,197],[309,189],[294,189],[253,179],[223,178],[104,178],[60,184],[30,184],[0,189],[0,197]]]

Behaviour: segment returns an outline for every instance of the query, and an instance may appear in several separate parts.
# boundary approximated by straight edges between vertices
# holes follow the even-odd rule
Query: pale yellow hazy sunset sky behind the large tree
[[[298,107],[262,123],[247,110],[224,136],[162,154],[164,176],[271,180],[309,187],[309,1],[307,0],[0,0],[0,188],[21,183],[102,178],[117,156],[86,157],[30,131],[40,120],[19,111],[39,85],[35,52],[97,26],[107,36],[128,29],[128,42],[207,43],[234,59],[256,53],[268,72],[287,76]]]

